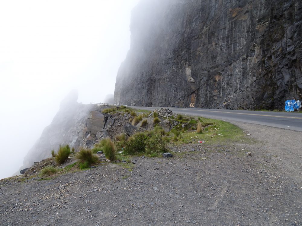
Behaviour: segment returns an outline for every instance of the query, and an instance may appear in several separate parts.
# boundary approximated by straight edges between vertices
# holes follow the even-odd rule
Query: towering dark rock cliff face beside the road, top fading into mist
[[[282,109],[302,98],[300,0],[143,0],[120,104]]]

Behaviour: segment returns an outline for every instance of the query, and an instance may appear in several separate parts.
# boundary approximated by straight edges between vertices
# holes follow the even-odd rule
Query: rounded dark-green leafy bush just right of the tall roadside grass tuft
[[[128,138],[125,144],[124,153],[131,155],[134,153],[145,152],[145,142],[147,139],[148,137],[144,132],[134,133],[131,137]]]

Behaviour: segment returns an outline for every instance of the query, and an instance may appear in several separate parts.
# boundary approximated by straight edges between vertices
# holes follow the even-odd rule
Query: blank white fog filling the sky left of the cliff
[[[83,103],[114,93],[137,3],[1,1],[0,178],[18,171],[70,90]]]

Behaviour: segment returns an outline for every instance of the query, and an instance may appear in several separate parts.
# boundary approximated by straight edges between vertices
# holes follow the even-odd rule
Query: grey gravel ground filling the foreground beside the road
[[[233,123],[248,142],[189,143],[171,147],[172,158],[2,180],[0,225],[301,225],[302,133]]]

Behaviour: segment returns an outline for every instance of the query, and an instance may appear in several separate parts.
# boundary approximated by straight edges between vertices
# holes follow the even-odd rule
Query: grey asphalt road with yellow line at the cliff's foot
[[[153,111],[154,107],[131,107]],[[157,107],[158,108],[158,107]],[[200,108],[170,108],[173,112],[183,115],[196,115],[205,118],[233,120],[266,125],[289,130],[302,131],[302,114],[294,112],[274,111],[241,111]]]

